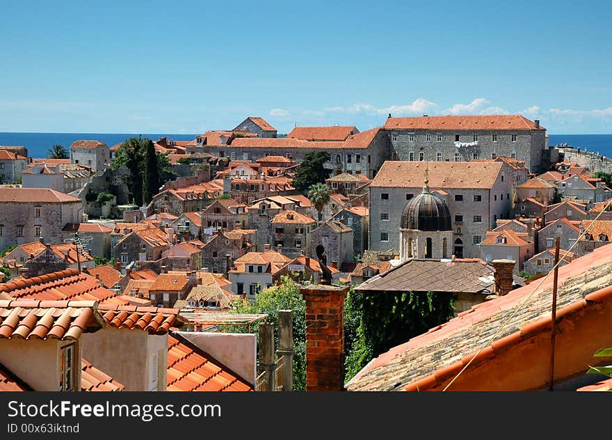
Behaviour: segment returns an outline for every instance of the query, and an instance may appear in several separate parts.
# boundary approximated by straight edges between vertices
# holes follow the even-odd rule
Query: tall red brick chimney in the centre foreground
[[[344,391],[344,299],[348,287],[300,288],[306,301],[306,391]]]

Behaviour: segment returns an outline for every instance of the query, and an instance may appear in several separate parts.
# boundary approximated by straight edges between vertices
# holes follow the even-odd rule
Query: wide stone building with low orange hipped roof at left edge
[[[0,189],[0,249],[38,241],[62,242],[67,223],[80,223],[83,202],[47,188]]]

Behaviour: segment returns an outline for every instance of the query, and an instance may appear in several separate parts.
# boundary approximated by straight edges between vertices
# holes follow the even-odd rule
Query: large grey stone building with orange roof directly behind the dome
[[[449,252],[478,258],[478,243],[512,212],[513,171],[504,162],[385,162],[369,186],[369,249],[399,249],[402,210],[421,193],[426,170],[432,193],[451,213]]]

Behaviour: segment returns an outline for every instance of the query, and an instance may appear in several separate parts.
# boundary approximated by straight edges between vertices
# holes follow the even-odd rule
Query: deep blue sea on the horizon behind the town
[[[0,146],[24,146],[28,149],[30,157],[47,157],[47,150],[56,144],[69,147],[79,139],[94,139],[106,143],[109,147],[121,143],[138,134],[111,134],[111,133],[0,133]],[[156,141],[161,137],[168,137],[175,141],[193,141],[195,134],[142,134]],[[567,143],[568,146],[588,151],[599,152],[606,157],[612,157],[612,134],[551,134],[550,145]]]

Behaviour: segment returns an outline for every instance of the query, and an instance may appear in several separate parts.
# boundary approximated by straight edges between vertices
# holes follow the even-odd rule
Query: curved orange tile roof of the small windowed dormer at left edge
[[[0,299],[0,339],[77,340],[102,328],[96,301]]]

